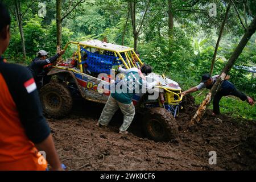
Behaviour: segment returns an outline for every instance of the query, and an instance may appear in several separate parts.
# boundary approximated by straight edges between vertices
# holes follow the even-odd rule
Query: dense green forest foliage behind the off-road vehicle
[[[5,57],[29,64],[44,49],[88,39],[134,47],[154,72],[179,82],[183,90],[199,84],[203,73],[218,75],[256,14],[255,0],[8,0],[11,42]],[[227,12],[228,5],[230,9]],[[227,20],[213,59],[222,23]],[[72,50],[65,53],[72,55]],[[256,35],[230,71],[230,81],[256,98],[256,78],[238,66],[256,66]],[[255,74],[256,76],[256,74]],[[208,90],[194,93],[200,103]],[[255,106],[237,98],[221,100],[221,112],[256,119]]]

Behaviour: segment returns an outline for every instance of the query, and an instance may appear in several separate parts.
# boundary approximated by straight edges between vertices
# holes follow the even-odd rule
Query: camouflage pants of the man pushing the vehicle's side
[[[135,115],[135,107],[133,105],[133,102],[131,102],[131,104],[122,104],[121,102],[115,100],[112,96],[109,96],[109,99],[106,102],[106,105],[101,113],[101,117],[100,119],[98,119],[98,122],[103,126],[108,125],[118,108],[120,108],[123,113],[123,124],[119,128],[119,130],[126,131],[131,125],[131,122],[133,121]]]

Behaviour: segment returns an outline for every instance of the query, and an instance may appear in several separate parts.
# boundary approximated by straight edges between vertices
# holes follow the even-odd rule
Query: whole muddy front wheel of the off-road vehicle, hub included
[[[178,127],[176,119],[167,110],[155,107],[148,109],[143,117],[143,130],[155,142],[176,139]]]

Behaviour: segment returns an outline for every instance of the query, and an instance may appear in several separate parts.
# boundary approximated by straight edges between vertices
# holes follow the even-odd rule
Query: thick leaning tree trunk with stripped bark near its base
[[[199,109],[196,111],[196,114],[191,119],[191,122],[189,123],[190,126],[194,125],[196,122],[199,122],[201,120],[201,117],[203,116],[204,111],[207,108],[207,105],[210,103],[210,100],[218,92],[218,88],[220,88],[222,82],[224,81],[224,78],[226,77],[226,75],[228,75],[230,69],[233,67],[238,56],[240,56],[240,54],[242,53],[243,48],[245,48],[247,42],[251,38],[251,35],[254,34],[255,30],[256,30],[256,15],[254,16],[254,19],[251,22],[250,26],[247,28],[245,35],[243,35],[242,39],[240,40],[240,43],[238,44],[237,48],[234,50],[234,52],[230,56],[228,63],[222,69],[220,77],[215,82],[212,89],[210,89],[210,92],[208,93],[207,97],[202,102],[202,104],[199,106]]]

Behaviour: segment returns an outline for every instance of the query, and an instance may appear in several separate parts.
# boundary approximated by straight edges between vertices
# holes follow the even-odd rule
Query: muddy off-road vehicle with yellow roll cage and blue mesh
[[[75,45],[75,53],[53,66],[48,73],[52,81],[40,89],[40,99],[47,117],[61,118],[68,115],[74,94],[88,101],[105,104],[110,94],[113,69],[117,70],[118,65],[126,69],[138,67],[135,60],[143,65],[133,48],[87,40],[69,42],[64,49],[71,45]],[[142,118],[143,132],[155,141],[174,139],[177,137],[175,117],[183,99],[181,88],[177,82],[164,75],[151,73],[147,77],[157,78],[161,85],[154,88],[159,94],[155,100],[148,100],[150,93],[136,94],[133,98],[136,114]]]

